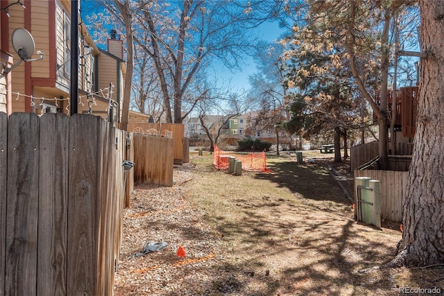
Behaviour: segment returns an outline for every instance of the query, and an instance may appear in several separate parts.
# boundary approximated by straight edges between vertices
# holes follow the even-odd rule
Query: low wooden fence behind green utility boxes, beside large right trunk
[[[402,200],[405,194],[407,176],[409,172],[355,170],[354,177],[370,177],[379,180],[381,191],[381,218],[390,221],[402,221]],[[357,204],[357,190],[355,186],[355,204]],[[355,207],[356,211],[357,207]],[[356,214],[356,213],[355,213]]]

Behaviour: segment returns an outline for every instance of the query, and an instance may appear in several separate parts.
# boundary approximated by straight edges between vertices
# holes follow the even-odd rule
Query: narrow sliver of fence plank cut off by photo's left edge
[[[8,182],[8,115],[0,112],[0,295],[5,295],[6,183]]]

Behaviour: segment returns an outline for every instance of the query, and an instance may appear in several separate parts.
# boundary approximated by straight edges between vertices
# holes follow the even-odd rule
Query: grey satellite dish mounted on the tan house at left
[[[25,62],[33,62],[35,60],[43,60],[44,53],[42,51],[37,51],[40,55],[40,58],[30,59],[35,51],[35,43],[34,38],[26,29],[24,28],[16,28],[14,32],[12,32],[11,37],[12,47],[14,47],[15,52],[19,55],[20,60],[13,64],[9,68],[5,68],[4,73],[8,74],[12,69],[17,67],[23,60]]]

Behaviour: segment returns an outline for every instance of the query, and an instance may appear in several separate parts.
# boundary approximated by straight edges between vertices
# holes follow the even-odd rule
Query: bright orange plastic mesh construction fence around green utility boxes
[[[230,153],[214,145],[213,166],[219,170],[228,169],[230,157],[236,157],[242,162],[242,169],[253,172],[268,172],[266,154],[264,152],[248,153],[248,155]]]

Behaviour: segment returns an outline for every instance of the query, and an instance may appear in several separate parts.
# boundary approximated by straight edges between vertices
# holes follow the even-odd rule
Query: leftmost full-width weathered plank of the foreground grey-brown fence
[[[6,281],[8,295],[35,295],[39,117],[14,113],[8,122]]]

